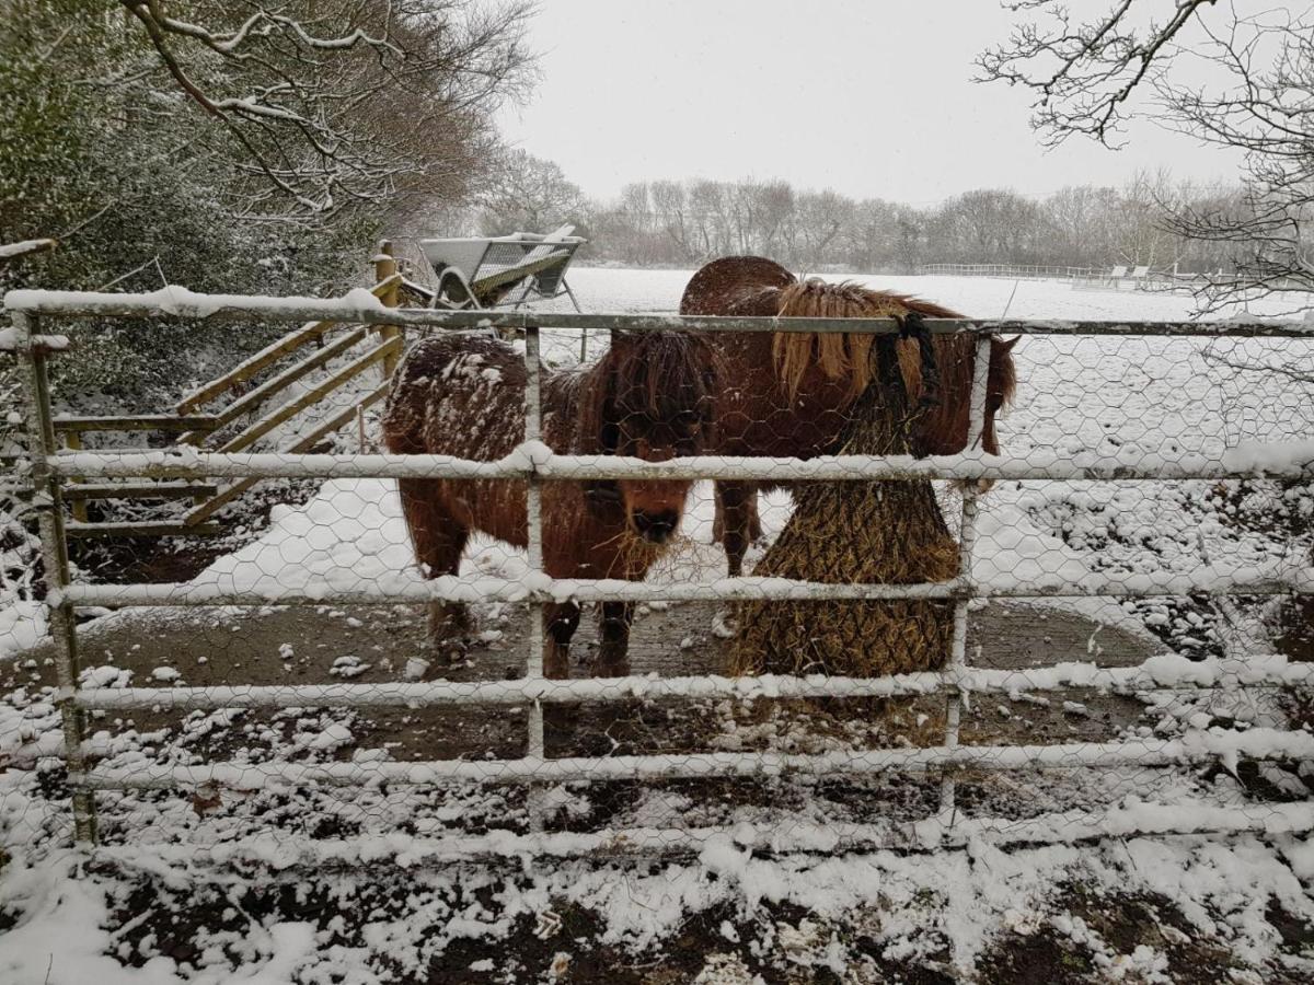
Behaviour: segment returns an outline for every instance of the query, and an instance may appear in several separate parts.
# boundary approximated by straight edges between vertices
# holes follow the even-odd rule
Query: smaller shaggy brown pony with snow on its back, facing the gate
[[[699,454],[712,443],[715,370],[706,340],[671,332],[612,334],[589,368],[544,370],[543,440],[558,453],[648,461]],[[524,436],[526,368],[506,343],[432,334],[397,368],[384,439],[398,454],[497,460]],[[641,580],[679,527],[691,483],[629,481],[543,486],[543,561],[553,578]],[[527,489],[512,479],[399,479],[415,557],[427,577],[456,574],[472,531],[527,544]],[[633,605],[602,604],[600,676],[628,672]],[[579,605],[544,612],[544,672],[569,675]],[[430,637],[461,651],[464,604],[435,602]]]

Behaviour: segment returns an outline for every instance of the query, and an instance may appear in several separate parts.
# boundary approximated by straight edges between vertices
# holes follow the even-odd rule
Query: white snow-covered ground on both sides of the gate
[[[589,311],[670,311],[687,278],[689,272],[681,271],[587,268],[573,271],[570,277]],[[862,280],[979,317],[1169,320],[1190,314],[1190,301],[1181,296],[1083,292],[1062,282]],[[1250,314],[1285,310],[1280,303],[1256,305]],[[1226,365],[1276,356],[1289,360],[1293,352],[1309,361],[1311,351],[1300,353],[1294,345],[1261,340],[1206,344],[1180,339],[1028,338],[1016,349],[1018,398],[1001,422],[1001,441],[1010,453],[1024,454],[1031,449],[1143,449],[1171,457],[1177,452],[1217,453],[1243,439],[1303,437],[1314,422],[1307,387]],[[577,357],[578,339],[564,332],[551,335],[547,352],[556,361],[570,361]],[[1025,579],[1031,573],[1077,580],[1092,571],[1189,574],[1206,562],[1277,571],[1307,565],[1314,510],[1307,489],[1282,494],[1256,486],[1231,495],[1202,482],[1000,483],[983,500],[975,573],[983,579]],[[945,490],[943,495],[953,512],[953,494]],[[769,535],[783,527],[788,510],[786,494],[763,499]],[[689,580],[720,573],[724,558],[711,542],[711,512],[710,487],[699,485],[686,525],[692,544],[664,563],[656,578]],[[350,590],[418,577],[409,563],[409,540],[390,483],[332,481],[305,506],[277,507],[258,540],[217,559],[194,582],[235,588],[275,583],[284,588],[327,584]],[[505,575],[524,567],[519,553],[486,540],[472,545],[465,563],[470,571]],[[1164,649],[1189,655],[1225,651],[1238,640],[1246,645],[1267,642],[1261,640],[1264,613],[1257,607],[1233,607],[1221,613],[1209,605],[1163,602],[1072,605],[1108,624],[1142,634],[1152,632]],[[9,617],[14,628],[22,626],[25,641],[39,626],[24,621],[24,616],[35,615],[14,611]],[[100,621],[105,626],[141,625],[142,632],[163,632],[156,620],[167,615],[129,609]],[[1229,620],[1240,620],[1244,626],[1238,629]],[[0,616],[0,632],[4,625]],[[296,641],[288,646],[290,650]],[[91,680],[99,686],[124,683],[114,667],[93,668]],[[0,844],[8,846],[13,856],[0,873],[0,981],[21,985],[43,981],[47,971],[54,985],[91,980],[218,982],[234,974],[243,981],[301,985],[410,981],[420,980],[431,961],[443,960],[453,948],[470,957],[460,969],[453,965],[451,977],[438,980],[569,981],[565,969],[570,953],[589,951],[591,944],[560,931],[558,913],[568,908],[602,914],[594,925],[593,944],[600,942],[623,953],[660,948],[702,914],[728,914],[714,935],[724,942],[728,956],[724,961],[723,955],[708,956],[702,972],[707,977],[698,978],[708,982],[752,981],[746,971],[736,968],[763,951],[791,955],[782,960],[795,969],[824,968],[836,974],[834,980],[845,981],[883,980],[862,976],[882,976],[882,968],[892,967],[880,961],[920,960],[940,951],[947,953],[941,960],[946,971],[966,972],[997,935],[1043,934],[1076,942],[1074,946],[1092,956],[1105,978],[1172,980],[1164,971],[1175,947],[1171,935],[1158,944],[1120,948],[1106,939],[1108,931],[1064,909],[1072,886],[1080,893],[1139,894],[1164,901],[1163,906],[1183,917],[1185,930],[1176,932],[1225,947],[1238,963],[1239,980],[1254,974],[1256,967],[1272,968],[1279,961],[1275,955],[1280,935],[1272,906],[1314,926],[1309,896],[1314,843],[1292,835],[1134,838],[1013,851],[976,844],[968,851],[933,856],[875,852],[786,859],[756,856],[725,838],[710,841],[698,858],[660,865],[631,867],[595,859],[526,863],[519,871],[473,863],[436,871],[407,868],[414,837],[485,826],[524,830],[523,797],[497,788],[271,788],[240,797],[237,804],[226,802],[225,810],[215,813],[176,795],[105,795],[110,841],[126,846],[137,838],[177,842],[180,851],[167,858],[141,852],[125,869],[75,876],[78,856],[67,848],[67,801],[59,792],[57,764],[46,758],[57,751],[59,741],[50,697],[24,691],[8,695],[0,704],[0,756],[20,750],[24,754],[21,763],[0,772]],[[1158,724],[1129,733],[1127,738],[1175,735],[1188,728],[1217,725],[1222,718],[1235,718],[1243,722],[1240,728],[1277,724],[1268,703],[1222,707],[1160,695],[1148,699],[1147,711],[1150,721],[1158,718]],[[252,763],[280,756],[326,762],[352,749],[357,758],[388,755],[384,749],[367,749],[355,741],[361,725],[346,712],[290,709],[271,722],[248,722],[227,712],[194,713],[175,730],[138,733],[122,726],[113,735],[102,734],[97,750],[108,754],[106,762],[114,767],[191,763],[201,758],[206,742],[231,734],[229,741],[240,746],[238,754],[252,756]],[[731,721],[727,728],[733,726]],[[763,741],[767,747],[815,742],[821,749],[846,741],[833,734],[800,735],[798,722],[782,726],[778,734],[773,721],[740,725],[733,738]],[[732,747],[725,745],[725,735],[719,739],[719,747]],[[1226,771],[1208,777],[1163,770],[1059,771],[1056,776],[1043,781],[1022,775],[1001,779],[982,796],[993,801],[989,806],[996,810],[1000,801],[1012,800],[1013,817],[1096,804],[1134,809],[1142,801],[1210,806],[1251,802],[1250,789]],[[1271,781],[1284,783],[1282,777]],[[900,777],[874,781],[863,792],[869,800],[903,799],[901,809],[908,809],[909,802],[922,805],[933,795],[933,787],[921,791]],[[589,820],[599,809],[587,787],[564,787],[551,796],[564,817]],[[641,797],[627,808],[623,820],[631,826],[669,826],[703,818],[752,827],[824,823],[827,812],[836,809],[836,802],[813,796],[811,787],[778,791],[765,802],[720,806],[704,806],[665,789]],[[603,817],[616,823],[619,814]],[[263,883],[290,885],[293,896],[301,897],[328,893],[346,901],[353,893],[367,893],[367,880],[360,875],[331,876],[327,869],[315,873],[294,865],[298,856],[285,841],[321,827],[355,831],[357,841],[374,852],[378,880],[396,883],[399,897],[380,902],[373,915],[352,914],[338,923],[297,917],[294,906],[265,908],[254,918],[247,915],[252,890]],[[238,839],[247,847],[233,846],[226,868],[214,872],[189,864],[193,851]],[[176,948],[164,947],[168,932],[163,923],[171,911],[192,913],[189,906],[196,904],[189,894],[206,905],[214,900],[213,911],[219,915],[193,929],[201,956],[184,960]],[[778,908],[786,904],[811,915],[782,922]],[[343,902],[344,913],[350,906]],[[197,917],[183,919],[196,922]],[[148,932],[141,930],[143,925]],[[509,969],[527,965],[507,959],[502,953],[507,944],[499,942],[519,940],[527,925],[533,929],[532,939],[551,943],[549,956],[532,976],[523,971],[524,977],[516,977]],[[861,935],[876,942],[876,964],[857,946]],[[343,943],[348,939],[350,944]],[[565,964],[555,972],[561,955]],[[126,959],[145,967],[126,969],[121,965]],[[1282,961],[1288,959],[1279,964]],[[1310,971],[1309,964],[1290,967],[1297,976]],[[478,977],[484,972],[487,977]]]

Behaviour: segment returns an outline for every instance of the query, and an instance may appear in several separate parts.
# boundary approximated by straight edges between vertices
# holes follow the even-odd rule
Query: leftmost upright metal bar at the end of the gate
[[[85,713],[78,707],[78,628],[74,608],[63,600],[68,584],[68,540],[64,536],[64,511],[59,495],[60,477],[46,458],[59,450],[50,411],[50,386],[46,357],[35,343],[39,319],[26,311],[13,313],[17,334],[16,355],[22,377],[22,418],[26,429],[28,468],[33,486],[33,506],[41,532],[41,561],[46,588],[46,612],[55,640],[55,671],[59,680],[57,704],[64,733],[64,763],[72,791],[74,842],[96,843],[96,802],[89,789],[80,787],[85,774],[83,738]]]

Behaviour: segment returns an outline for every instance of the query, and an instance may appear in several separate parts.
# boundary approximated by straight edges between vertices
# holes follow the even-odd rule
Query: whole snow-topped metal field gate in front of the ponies
[[[961,516],[961,574],[942,583],[922,584],[827,584],[781,578],[716,578],[703,583],[649,584],[612,579],[553,579],[543,570],[541,490],[544,483],[581,479],[690,478],[854,481],[854,479],[1244,479],[1314,478],[1314,445],[1246,445],[1217,457],[1179,456],[1147,461],[1144,456],[1100,457],[1053,454],[1049,457],[989,456],[980,450],[930,458],[907,456],[823,456],[799,458],[691,457],[666,462],[614,456],[557,454],[541,443],[540,411],[540,331],[544,327],[600,332],[606,330],[643,331],[724,331],[724,332],[869,332],[890,335],[899,331],[892,319],[778,319],[778,318],[694,318],[664,315],[452,313],[388,307],[374,297],[355,294],[344,299],[246,298],[234,296],[175,294],[97,294],[24,290],[12,292],[5,306],[13,319],[12,349],[24,370],[22,416],[28,441],[26,458],[18,474],[32,487],[32,504],[38,514],[39,538],[46,579],[45,605],[58,646],[58,705],[63,722],[63,758],[72,789],[75,841],[96,843],[96,791],[154,788],[225,788],[283,784],[452,784],[460,781],[493,784],[548,784],[564,781],[603,781],[671,777],[735,777],[783,775],[863,775],[875,772],[930,772],[940,775],[940,808],[915,825],[799,825],[784,833],[740,831],[735,838],[777,851],[830,851],[840,846],[936,848],[962,844],[974,838],[1008,842],[1071,842],[1101,835],[1134,833],[1196,831],[1309,831],[1314,830],[1314,802],[1264,804],[1254,806],[1210,806],[1200,810],[1180,808],[1114,809],[1100,813],[1042,814],[1018,821],[970,817],[955,801],[955,777],[963,770],[1016,771],[1079,768],[1112,764],[1168,764],[1230,762],[1236,756],[1255,759],[1314,758],[1314,734],[1300,730],[1254,728],[1248,732],[1215,733],[1193,730],[1177,738],[1146,737],[1135,741],[1070,742],[1058,745],[961,745],[959,709],[974,692],[1003,693],[1053,691],[1067,684],[1091,684],[1114,691],[1138,688],[1225,688],[1251,686],[1293,686],[1314,683],[1314,665],[1289,665],[1285,659],[1184,662],[1166,671],[1162,662],[1127,668],[1101,670],[1087,663],[1060,663],[1029,668],[1025,675],[972,667],[966,646],[968,604],[979,598],[1037,596],[1137,596],[1166,595],[1310,595],[1314,571],[1286,571],[1280,577],[1260,577],[1244,570],[1231,574],[1204,570],[1190,575],[1135,575],[1066,582],[1055,575],[1050,582],[1018,582],[1008,578],[978,580],[972,577],[972,552],[978,535],[978,492],[970,483],[963,492]],[[406,330],[522,330],[524,364],[528,374],[524,408],[524,443],[498,461],[472,461],[449,456],[417,454],[258,454],[242,449],[202,452],[177,448],[150,452],[70,450],[62,448],[58,423],[51,414],[46,383],[46,349],[55,322],[79,318],[145,319],[264,319],[271,322],[336,322],[371,328]],[[993,332],[1021,335],[1091,336],[1223,336],[1314,339],[1314,326],[1298,323],[1218,324],[1179,322],[1041,322],[1041,320],[929,320],[932,332],[970,332],[978,336],[976,374],[972,386],[970,435],[979,439],[987,394],[986,370]],[[970,441],[968,448],[975,448]],[[424,583],[389,584],[368,591],[338,592],[317,590],[252,588],[222,591],[187,584],[104,586],[74,580],[67,561],[68,528],[62,503],[70,483],[131,478],[213,483],[217,479],[256,481],[267,477],[426,477],[426,478],[511,478],[524,481],[528,496],[528,573],[520,578],[461,575],[435,578]],[[945,599],[953,603],[953,637],[942,671],[888,678],[834,676],[687,676],[687,678],[590,678],[553,680],[543,667],[543,607],[558,600],[670,600],[694,599],[732,602],[744,599]],[[127,687],[91,688],[79,686],[79,642],[75,612],[79,607],[126,605],[323,605],[368,602],[372,604],[414,604],[417,602],[502,600],[524,604],[530,613],[524,676],[515,680],[393,684],[288,684],[267,687]],[[913,749],[838,750],[820,754],[708,751],[678,755],[623,755],[548,758],[544,746],[544,707],[561,701],[625,701],[635,697],[855,697],[891,695],[945,696],[945,730],[940,745]],[[526,754],[507,759],[444,759],[432,762],[210,762],[175,766],[145,763],[133,768],[97,766],[87,743],[85,718],[96,709],[215,709],[234,707],[415,707],[460,704],[528,707]],[[717,829],[720,834],[728,831]],[[665,851],[695,847],[714,834],[710,829],[606,830],[587,835],[531,830],[526,834],[495,833],[417,838],[409,842],[413,855],[447,859],[470,855],[573,855],[594,852]],[[340,848],[340,846],[339,846]],[[222,855],[227,848],[215,846]],[[330,848],[314,843],[302,846],[306,858]],[[104,850],[101,850],[104,851]],[[137,854],[158,851],[167,856],[176,846],[134,844]],[[194,848],[188,848],[194,854]]]

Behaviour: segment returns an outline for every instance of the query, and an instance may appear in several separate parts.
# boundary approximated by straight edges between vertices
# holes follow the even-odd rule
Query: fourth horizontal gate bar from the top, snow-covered
[[[1131,667],[1066,662],[1026,670],[970,668],[958,674],[925,671],[880,678],[719,675],[586,678],[579,680],[434,680],[372,684],[275,684],[209,687],[89,688],[72,693],[83,708],[378,708],[457,704],[515,705],[528,701],[629,701],[666,697],[779,700],[802,697],[891,697],[937,691],[1025,693],[1074,687],[1120,693],[1227,687],[1314,684],[1314,663],[1290,663],[1281,654],[1244,659],[1188,661],[1164,654]]]

